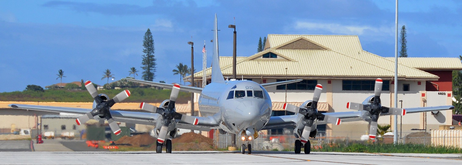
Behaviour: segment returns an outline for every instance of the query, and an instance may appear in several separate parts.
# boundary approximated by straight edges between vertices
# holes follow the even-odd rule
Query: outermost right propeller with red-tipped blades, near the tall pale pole
[[[346,108],[352,110],[366,110],[370,113],[371,121],[369,122],[369,138],[375,139],[377,135],[377,121],[381,113],[392,115],[406,115],[406,110],[401,108],[389,108],[382,106],[380,94],[382,93],[382,79],[376,79],[374,86],[374,100],[371,104],[346,103]]]

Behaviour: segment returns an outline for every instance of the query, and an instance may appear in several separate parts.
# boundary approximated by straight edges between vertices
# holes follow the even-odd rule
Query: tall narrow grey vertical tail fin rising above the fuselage
[[[219,55],[218,55],[218,28],[217,28],[217,14],[215,13],[215,28],[213,37],[213,56],[212,56],[212,82],[224,83],[223,73],[221,73]]]

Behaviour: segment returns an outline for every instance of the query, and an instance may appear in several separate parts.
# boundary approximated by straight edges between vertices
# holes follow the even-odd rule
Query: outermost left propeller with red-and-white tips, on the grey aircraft
[[[110,108],[114,104],[119,103],[119,102],[123,101],[124,99],[128,98],[130,96],[130,91],[124,90],[124,91],[120,92],[119,94],[117,94],[116,97],[114,97],[114,98],[112,98],[110,100],[103,100],[103,98],[101,98],[98,95],[98,92],[97,92],[95,86],[93,86],[93,83],[91,83],[91,81],[86,81],[85,82],[85,87],[86,87],[87,91],[90,93],[91,97],[93,99],[95,99],[96,107],[93,110],[91,110],[90,112],[86,113],[85,115],[80,116],[79,118],[77,118],[75,120],[77,125],[85,123],[88,120],[93,119],[97,115],[103,115],[103,117],[109,122],[109,127],[111,128],[112,132],[114,134],[116,134],[116,135],[120,134],[122,131],[121,131],[119,125],[117,124],[117,122],[114,119],[112,119],[112,116],[111,116],[111,113],[110,113]],[[104,94],[102,94],[102,95],[105,96]]]

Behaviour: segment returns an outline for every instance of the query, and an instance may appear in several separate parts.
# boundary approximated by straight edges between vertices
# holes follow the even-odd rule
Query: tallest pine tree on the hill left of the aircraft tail
[[[156,58],[154,57],[154,41],[152,40],[151,30],[147,29],[144,40],[143,40],[143,61],[141,68],[143,71],[143,79],[146,81],[152,81],[156,75]]]

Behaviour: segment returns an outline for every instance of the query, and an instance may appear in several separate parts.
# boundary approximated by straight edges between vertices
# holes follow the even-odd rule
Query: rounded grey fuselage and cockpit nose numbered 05
[[[199,97],[201,115],[213,116],[221,129],[234,134],[261,130],[271,116],[271,108],[265,88],[249,80],[210,83]]]

